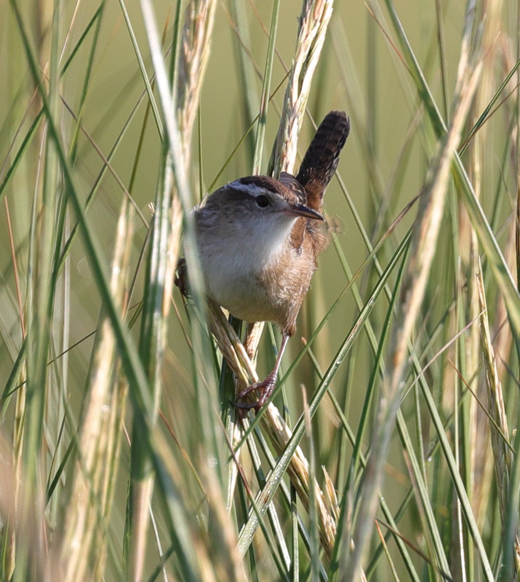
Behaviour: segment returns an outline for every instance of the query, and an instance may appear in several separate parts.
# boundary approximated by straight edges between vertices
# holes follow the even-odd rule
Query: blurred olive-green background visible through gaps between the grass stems
[[[44,68],[50,54],[49,27],[52,3],[45,0],[39,2],[22,0],[17,2],[17,5],[29,30],[33,47],[40,58],[40,66]],[[319,123],[329,110],[345,109],[351,117],[352,129],[340,158],[338,174],[346,184],[347,192],[371,242],[375,244],[405,205],[419,193],[426,180],[438,140],[434,136],[430,120],[425,116],[423,100],[417,94],[417,87],[400,58],[399,49],[389,40],[389,38],[394,38],[394,35],[392,26],[388,22],[387,12],[375,2],[370,6],[371,8],[368,8],[364,2],[336,2],[324,49],[312,82],[307,108],[309,116],[305,118],[301,130],[299,151],[300,155],[305,151],[314,133],[310,118],[315,123]],[[449,119],[452,113],[456,68],[461,55],[465,5],[453,0],[443,2],[400,0],[393,3],[393,6],[406,31],[413,52],[419,60],[420,68],[434,95],[435,102],[443,118]],[[480,6],[484,14],[486,6],[484,8]],[[139,4],[129,1],[126,7],[140,49],[145,55],[147,70],[151,75],[153,69]],[[78,41],[96,8],[97,6],[92,2],[77,5],[73,2],[64,3],[62,23],[64,26],[71,24],[64,58],[69,55],[71,47]],[[168,39],[164,45],[166,52],[167,45],[171,42],[171,22],[174,19],[175,3],[156,1],[154,8],[159,29],[166,27],[165,37]],[[518,31],[514,29],[516,9],[514,2],[504,3],[501,12],[503,23],[501,33],[495,38],[493,45],[484,47],[484,50],[489,49],[490,56],[487,58],[493,59],[486,63],[486,66],[496,74],[496,84],[487,87],[491,95],[500,86],[508,72],[503,61],[496,57],[496,51],[499,51],[499,47],[500,49],[507,47],[514,53],[511,49],[514,43],[511,39],[516,38],[518,34]],[[192,140],[193,156],[189,178],[194,193],[194,204],[214,182],[213,189],[216,189],[230,180],[251,173],[254,132],[239,145],[229,163],[226,164],[226,161],[250,129],[252,122],[245,111],[244,93],[247,91],[250,94],[252,103],[255,100],[259,103],[261,77],[268,46],[266,30],[269,29],[272,3],[262,0],[237,1],[236,10],[242,19],[240,25],[234,22],[236,13],[231,10],[229,2],[217,3],[208,68],[203,81],[198,119]],[[294,55],[300,10],[300,1],[287,0],[281,3],[276,37],[277,54],[271,89],[274,91],[277,86],[280,85],[280,87],[269,105],[262,163],[264,171],[268,168],[269,154],[279,124],[286,86],[284,76],[287,68],[290,68]],[[438,15],[442,23],[440,29]],[[476,26],[478,24],[476,23]],[[63,33],[65,34],[66,31],[64,30]],[[239,37],[247,45],[250,54],[248,68],[251,70],[251,83],[248,83],[248,86],[244,86],[239,74],[240,66],[237,60]],[[504,52],[507,51],[504,49]],[[75,115],[79,114],[78,105],[88,62],[89,52],[85,46],[80,49],[71,68],[62,79],[61,96],[66,107],[62,108],[60,123],[66,145],[71,143],[75,127],[75,122],[67,108],[70,108]],[[513,64],[511,63],[511,66]],[[255,73],[255,70],[258,73]],[[33,100],[34,85],[8,2],[0,3],[0,79],[0,103],[2,104],[0,106],[0,180],[3,180],[6,169],[12,163],[14,152],[20,146],[34,113],[39,108],[38,99]],[[443,83],[443,79],[446,84]],[[75,162],[76,184],[80,194],[86,198],[103,166],[103,159],[99,152],[105,157],[108,155],[131,116],[133,108],[137,106],[135,116],[128,123],[121,144],[110,164],[125,186],[128,186],[132,171],[136,168],[132,197],[149,220],[151,217],[149,204],[155,198],[159,179],[161,144],[153,118],[150,116],[143,148],[136,165],[136,148],[146,107],[146,97],[142,98],[143,90],[142,77],[120,5],[111,0],[104,11],[93,59],[92,79],[81,112],[83,127],[99,151],[96,151],[85,134],[80,134]],[[472,111],[466,129],[470,129],[480,113],[482,111],[477,108]],[[481,168],[482,204],[486,215],[490,217],[490,221],[493,221],[494,233],[501,245],[505,244],[515,197],[515,178],[511,175],[503,175],[504,166],[501,166],[503,152],[508,147],[509,115],[510,110],[504,107],[487,122],[486,155],[483,156]],[[40,143],[43,131],[42,128],[38,129],[37,138],[33,139],[29,145],[5,190],[5,200],[8,201],[12,221],[16,263],[22,281],[22,295],[23,282],[29,276],[27,251],[31,208],[38,180],[38,161],[41,155]],[[514,159],[512,162],[516,163]],[[202,184],[202,190],[199,184]],[[500,197],[497,196],[499,190]],[[99,240],[101,248],[104,249],[107,263],[111,260],[113,253],[115,229],[123,197],[124,194],[117,180],[110,172],[107,172],[102,178],[95,201],[88,211],[89,225]],[[454,215],[456,214],[455,204],[455,198],[448,199],[447,207]],[[284,369],[300,352],[301,338],[308,338],[311,335],[312,330],[321,321],[333,301],[349,283],[340,261],[340,254],[345,255],[352,273],[357,271],[369,254],[346,197],[336,179],[332,181],[326,193],[325,206],[329,217],[339,223],[337,240],[320,257],[319,269],[313,279],[312,289],[298,319],[296,336],[289,343],[289,349],[284,357]],[[389,243],[385,243],[379,251],[378,258],[382,265],[387,264],[397,244],[412,224],[415,214],[414,207],[391,235]],[[69,229],[72,224],[73,212],[68,219]],[[146,236],[146,228],[138,218],[135,218],[135,224],[136,234],[133,240],[131,269],[138,264],[138,257]],[[450,269],[454,272],[457,270],[449,262],[452,258],[450,239],[456,238],[453,228],[453,223],[448,220],[442,223],[438,251],[435,255],[422,311],[426,320],[424,328],[421,327],[420,321],[417,322],[417,335],[420,337],[418,344],[424,347],[424,353],[427,356],[425,356],[425,362],[442,345],[441,340],[444,338],[435,335],[437,330],[434,325],[439,318],[443,317],[443,314],[449,311],[449,302],[453,299],[451,287],[447,290],[448,285],[453,285],[455,288]],[[55,299],[55,319],[58,322],[55,330],[57,333],[56,351],[60,352],[59,338],[62,340],[61,351],[79,342],[66,356],[68,358],[65,360],[67,377],[62,378],[71,409],[79,417],[86,390],[86,378],[89,368],[93,365],[93,338],[85,338],[96,329],[99,323],[101,300],[90,272],[89,262],[85,257],[81,237],[76,237],[70,258],[69,267],[64,271],[64,276],[66,281],[69,281],[71,293],[59,294],[58,292]],[[449,276],[448,271],[450,271]],[[131,305],[135,306],[142,299],[143,278],[144,268],[137,276]],[[367,269],[357,279],[357,285],[364,293],[367,293],[367,290],[373,288],[376,279],[374,272],[369,272]],[[487,280],[489,281],[489,277]],[[391,279],[391,284],[392,282],[393,279]],[[499,294],[499,290],[492,286],[489,292],[491,298],[496,298]],[[440,301],[438,301],[439,297]],[[187,324],[187,317],[177,289],[174,290],[174,301],[181,316],[178,318],[174,311],[170,315],[166,367],[163,370],[165,388],[163,409],[171,423],[175,425],[177,436],[182,444],[188,450],[190,447],[195,450],[198,443],[191,442],[189,438],[193,423],[198,418],[194,409],[192,361],[181,327],[181,323]],[[376,335],[381,331],[387,308],[388,302],[381,296],[370,317]],[[314,353],[322,370],[328,367],[357,313],[356,302],[349,291],[340,300],[332,317],[326,322],[318,336],[317,342],[314,343]],[[62,325],[64,321],[65,325]],[[465,320],[465,323],[467,324],[468,321]],[[138,334],[138,327],[136,326],[132,332],[135,335]],[[428,328],[427,332],[424,331],[426,328]],[[68,332],[63,333],[64,329],[68,329]],[[448,331],[453,330],[449,328]],[[447,335],[448,339],[451,338],[449,333]],[[22,331],[16,300],[10,235],[3,201],[0,210],[0,338],[0,379],[5,383],[19,350]],[[430,339],[432,339],[431,345],[428,344]],[[261,376],[262,372],[270,369],[271,346],[266,333],[260,352],[259,375]],[[431,353],[425,346],[431,348]],[[365,389],[374,365],[373,352],[363,333],[357,339],[354,352],[354,360],[350,360],[349,354],[346,363],[333,380],[332,389],[340,393],[343,393],[347,385],[351,389],[348,396],[347,416],[355,431]],[[434,363],[428,372],[431,374],[428,379],[442,378],[445,373],[442,365],[445,365],[445,362]],[[302,407],[300,382],[305,383],[309,395],[318,385],[318,375],[315,374],[314,366],[309,359],[304,359],[287,381],[286,388],[291,410],[298,413]],[[437,395],[441,390],[438,384],[432,389],[437,390]],[[451,386],[444,386],[444,389],[449,391]],[[441,400],[440,397],[439,402]],[[453,411],[449,407],[451,404],[449,399],[442,400],[442,403],[448,403],[445,413],[449,416]],[[412,402],[412,398],[409,398],[403,403],[402,410],[412,416],[414,406],[416,402]],[[419,416],[420,414],[418,418]],[[10,425],[9,416],[6,418],[8,420],[5,423],[5,430]],[[328,445],[332,439],[331,435],[339,425],[328,399],[324,400],[318,412],[318,423],[320,418],[323,420],[322,432],[317,432],[316,439],[318,448],[322,446],[321,453],[327,457],[326,459],[319,457],[320,462],[326,463],[335,454]],[[417,425],[421,421],[426,428],[428,421],[425,420],[424,415],[417,420]],[[365,439],[367,441],[368,435]],[[426,441],[429,448],[428,437]],[[128,455],[127,448],[124,448],[123,454]],[[119,485],[121,501],[116,501],[118,511],[114,514],[114,520],[120,520],[122,523],[125,509],[122,501],[126,487],[125,475],[121,475]],[[402,448],[395,441],[392,443],[391,455],[388,458],[387,485],[385,498],[392,510],[395,510],[401,501],[401,496],[410,487]],[[435,501],[437,500],[433,503]],[[451,512],[447,498],[438,501],[437,510],[445,516]],[[416,524],[415,510],[412,509],[406,518]]]

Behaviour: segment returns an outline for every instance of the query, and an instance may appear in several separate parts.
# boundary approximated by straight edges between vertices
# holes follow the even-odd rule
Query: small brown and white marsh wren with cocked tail
[[[206,293],[235,317],[279,324],[282,343],[273,370],[238,393],[259,391],[259,410],[276,385],[296,316],[328,244],[323,196],[350,130],[344,111],[331,111],[315,133],[296,176],[248,176],[226,184],[194,210],[195,235]],[[185,263],[175,282],[185,289]]]

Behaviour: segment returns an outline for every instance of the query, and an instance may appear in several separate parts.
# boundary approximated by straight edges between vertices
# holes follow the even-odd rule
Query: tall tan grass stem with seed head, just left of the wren
[[[164,352],[166,349],[166,337],[168,328],[168,312],[170,310],[171,291],[174,280],[174,272],[177,267],[178,253],[180,249],[180,235],[182,226],[182,209],[178,192],[174,189],[175,179],[184,180],[187,178],[191,165],[191,135],[195,120],[196,111],[199,104],[199,97],[202,88],[203,76],[208,62],[211,34],[213,30],[213,20],[215,16],[215,0],[191,0],[185,10],[184,27],[182,28],[180,54],[175,71],[177,91],[176,99],[173,100],[177,116],[178,127],[170,127],[177,130],[180,136],[178,151],[178,165],[173,159],[173,151],[166,158],[166,168],[164,169],[164,179],[160,189],[157,191],[156,212],[154,214],[152,233],[152,243],[150,249],[150,279],[155,285],[164,282],[162,289],[154,289],[153,293],[161,295],[160,320],[156,313],[145,313],[143,317],[148,318],[150,335],[145,340],[143,352],[149,352],[150,343],[155,346],[156,352],[149,353],[153,363],[149,365],[149,382],[153,389],[153,398],[156,410],[159,410],[162,392],[162,369],[164,364]],[[143,9],[147,10],[149,26],[152,25],[153,17],[150,12],[150,5],[143,4]],[[158,51],[152,49],[152,55]],[[159,63],[157,63],[159,65]],[[157,70],[156,70],[157,73]],[[163,77],[160,77],[163,79]],[[160,86],[160,83],[159,83]],[[161,87],[159,87],[161,91]],[[166,107],[169,87],[163,87],[163,107]],[[173,119],[170,118],[170,122]],[[170,125],[172,125],[170,123]],[[173,126],[175,124],[173,123]],[[170,139],[168,137],[167,139]],[[174,139],[174,138],[173,138]],[[170,144],[171,145],[171,144]],[[182,172],[182,177],[179,173]],[[187,190],[185,193],[186,194]],[[161,249],[166,246],[166,257],[161,253]],[[157,297],[153,297],[152,304]],[[152,304],[148,307],[154,310]],[[137,433],[136,433],[137,431]],[[139,430],[134,427],[133,441],[138,437]],[[135,442],[134,442],[135,446]],[[153,472],[148,471],[145,478],[139,475],[132,482],[132,508],[133,527],[130,553],[130,576],[133,580],[141,580],[146,559],[146,537],[149,528],[149,507],[153,493]],[[141,471],[138,471],[141,473]]]

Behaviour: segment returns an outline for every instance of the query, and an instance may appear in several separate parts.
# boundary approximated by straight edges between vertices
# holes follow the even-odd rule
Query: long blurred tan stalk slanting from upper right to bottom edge
[[[361,577],[361,559],[366,552],[367,541],[373,528],[384,464],[402,396],[402,382],[408,361],[408,343],[424,299],[437,247],[452,160],[461,141],[462,127],[482,71],[482,63],[475,61],[474,55],[472,62],[469,62],[469,48],[467,44],[463,44],[455,111],[448,132],[439,144],[438,154],[428,172],[426,187],[414,223],[410,258],[400,293],[402,300],[398,305],[392,339],[389,343],[391,346],[387,361],[389,374],[383,378],[381,385],[381,397],[371,437],[372,453],[368,457],[363,475],[362,495],[352,534],[354,551],[344,573],[346,580],[359,580]]]

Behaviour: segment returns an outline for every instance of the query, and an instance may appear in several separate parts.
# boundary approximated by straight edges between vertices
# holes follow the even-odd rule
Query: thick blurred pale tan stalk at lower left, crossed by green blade
[[[132,248],[133,208],[126,198],[117,226],[110,289],[125,311],[128,262]],[[101,580],[107,556],[107,522],[113,500],[114,474],[121,446],[127,385],[119,378],[115,336],[108,318],[100,326],[99,343],[86,399],[78,457],[64,526],[61,580]]]

